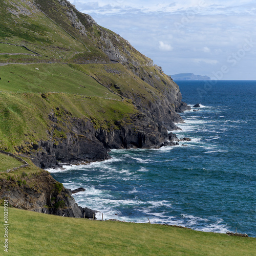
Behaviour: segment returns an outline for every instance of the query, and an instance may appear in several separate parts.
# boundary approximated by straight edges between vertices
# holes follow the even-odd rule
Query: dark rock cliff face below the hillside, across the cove
[[[164,142],[166,145],[166,141],[173,142],[165,126],[142,114],[134,116],[130,124],[117,123],[119,128],[115,129],[95,130],[90,120],[72,118],[65,137],[54,137],[54,130],[61,131],[61,128],[54,115],[50,118],[56,122],[49,131],[50,139],[33,144],[28,153],[40,168],[103,161],[110,159],[108,151],[113,148],[159,148]]]

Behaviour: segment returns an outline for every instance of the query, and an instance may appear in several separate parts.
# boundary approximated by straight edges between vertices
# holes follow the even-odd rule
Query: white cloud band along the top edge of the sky
[[[79,10],[98,14],[121,14],[121,13],[169,13],[169,14],[241,14],[255,15],[254,0],[243,0],[240,3],[236,0],[225,2],[215,0],[183,0],[173,1],[161,0],[70,0]],[[214,2],[214,3],[212,3]]]

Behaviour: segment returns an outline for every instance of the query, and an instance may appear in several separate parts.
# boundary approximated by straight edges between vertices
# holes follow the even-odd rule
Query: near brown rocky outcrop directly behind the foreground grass
[[[71,191],[63,188],[45,171],[24,176],[23,182],[13,177],[0,180],[0,198],[16,208],[65,217],[93,218],[95,211],[77,205]]]

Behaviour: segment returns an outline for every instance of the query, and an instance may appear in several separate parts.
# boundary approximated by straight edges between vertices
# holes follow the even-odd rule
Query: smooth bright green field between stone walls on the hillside
[[[59,63],[7,65],[0,68],[0,77],[0,91],[63,92],[121,100],[94,78]]]

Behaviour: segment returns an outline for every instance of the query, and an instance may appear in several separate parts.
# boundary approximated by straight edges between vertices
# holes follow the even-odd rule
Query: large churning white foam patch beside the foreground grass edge
[[[73,187],[71,187],[73,188]],[[223,220],[217,220],[216,223],[207,224],[209,222],[206,218],[195,217],[193,215],[182,214],[181,217],[166,216],[166,210],[157,210],[159,207],[165,206],[172,207],[172,204],[166,200],[162,201],[145,201],[131,200],[131,199],[115,199],[111,197],[110,190],[95,189],[93,186],[87,187],[86,191],[78,194],[74,194],[74,197],[79,205],[82,207],[89,207],[99,212],[96,214],[96,218],[101,219],[103,213],[104,219],[118,219],[126,222],[147,222],[146,216],[141,217],[128,217],[122,216],[121,212],[117,209],[118,206],[139,206],[141,204],[148,204],[147,207],[138,208],[138,211],[142,211],[149,216],[151,223],[165,223],[169,225],[181,225],[187,227],[197,227],[196,230],[207,232],[220,232],[227,231],[226,225],[222,224]],[[130,194],[138,193],[138,190],[134,187]],[[104,198],[103,198],[104,197]]]

